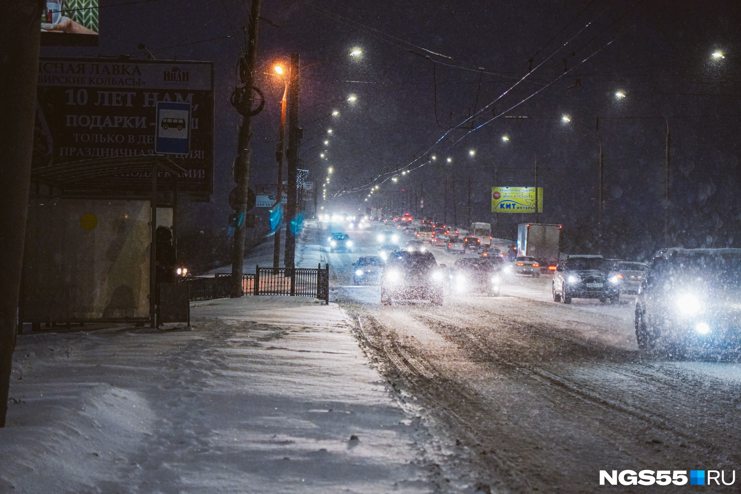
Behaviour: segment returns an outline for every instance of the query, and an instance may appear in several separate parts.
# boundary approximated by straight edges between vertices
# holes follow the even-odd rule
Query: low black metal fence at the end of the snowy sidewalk
[[[213,278],[178,278],[190,287],[190,301],[230,296],[231,273],[216,273]],[[316,297],[329,303],[329,264],[316,269],[306,267],[255,267],[255,273],[242,275],[242,293],[246,295],[282,295]]]

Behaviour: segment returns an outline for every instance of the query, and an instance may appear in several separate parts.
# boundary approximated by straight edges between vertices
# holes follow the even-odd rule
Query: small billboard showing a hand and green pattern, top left
[[[42,46],[98,46],[99,0],[45,0]]]

